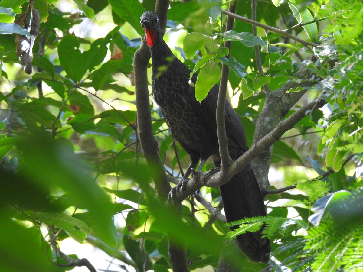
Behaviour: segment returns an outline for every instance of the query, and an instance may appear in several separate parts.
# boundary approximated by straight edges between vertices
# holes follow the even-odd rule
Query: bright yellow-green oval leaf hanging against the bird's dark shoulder
[[[195,98],[201,102],[207,97],[209,90],[218,83],[221,77],[221,69],[214,61],[209,61],[200,69],[195,84]]]

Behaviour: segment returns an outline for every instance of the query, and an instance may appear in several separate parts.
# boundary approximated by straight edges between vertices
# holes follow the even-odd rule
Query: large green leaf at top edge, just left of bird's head
[[[145,12],[142,4],[138,0],[109,0],[112,10],[128,22],[137,33],[144,35],[144,30],[140,24],[140,16]]]

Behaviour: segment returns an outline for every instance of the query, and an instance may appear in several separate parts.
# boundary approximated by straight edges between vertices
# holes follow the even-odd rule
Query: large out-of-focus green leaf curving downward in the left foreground
[[[34,135],[19,141],[17,148],[22,152],[23,175],[32,178],[42,190],[62,191],[69,194],[72,203],[82,203],[92,218],[92,225],[88,224],[92,234],[108,246],[116,247],[110,196],[97,184],[91,169],[74,154],[72,144],[61,138],[54,140],[50,133],[37,130]],[[76,226],[86,231],[78,223]],[[74,224],[69,227],[73,230]],[[75,232],[74,235],[82,238],[83,234]]]

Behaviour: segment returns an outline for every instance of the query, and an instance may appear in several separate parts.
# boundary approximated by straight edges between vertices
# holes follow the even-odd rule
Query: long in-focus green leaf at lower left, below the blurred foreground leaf
[[[28,215],[32,216],[31,213]],[[83,243],[83,240],[87,238],[86,234],[90,234],[91,232],[86,223],[66,214],[37,213],[34,219],[38,219],[42,222],[61,228],[67,232],[69,236],[81,244]],[[76,230],[74,227],[79,228],[79,230]]]

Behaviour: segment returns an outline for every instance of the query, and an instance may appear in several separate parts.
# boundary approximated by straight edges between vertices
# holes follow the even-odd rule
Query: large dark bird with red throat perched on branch
[[[141,24],[146,31],[152,58],[152,95],[172,135],[191,157],[191,164],[182,178],[184,181],[199,160],[202,166],[211,157],[216,166],[220,165],[216,124],[219,86],[214,85],[207,98],[199,103],[195,99],[194,87],[189,85],[191,70],[174,56],[164,42],[158,15],[154,12],[143,13]],[[197,75],[194,74],[192,82],[195,84],[196,80]],[[229,154],[236,160],[248,150],[248,146],[242,124],[227,100],[225,127]],[[260,187],[250,165],[220,186],[220,191],[228,222],[266,216]],[[267,263],[270,241],[261,236],[261,232],[246,232],[237,236],[237,244],[250,260]]]

